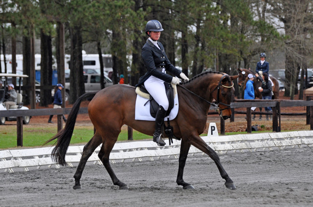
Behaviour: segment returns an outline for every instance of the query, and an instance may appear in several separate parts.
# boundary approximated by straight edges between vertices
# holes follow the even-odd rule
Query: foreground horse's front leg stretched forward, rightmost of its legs
[[[190,140],[190,144],[194,145],[198,149],[200,149],[205,154],[209,155],[210,158],[215,162],[217,168],[220,171],[220,174],[223,179],[225,179],[225,186],[229,189],[236,189],[236,186],[234,185],[234,182],[229,178],[228,174],[224,170],[224,167],[221,164],[219,155],[211,148],[209,147],[199,136],[194,136]]]

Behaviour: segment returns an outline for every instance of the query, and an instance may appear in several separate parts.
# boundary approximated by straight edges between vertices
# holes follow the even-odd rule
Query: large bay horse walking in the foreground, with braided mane
[[[235,91],[232,80],[237,76],[229,76],[220,72],[204,72],[193,77],[186,83],[178,85],[179,111],[177,117],[170,121],[174,128],[174,135],[181,139],[179,154],[179,170],[177,184],[183,189],[194,189],[191,184],[184,182],[183,171],[188,151],[194,145],[206,153],[218,167],[220,174],[225,179],[224,185],[229,189],[235,189],[233,181],[224,170],[218,154],[209,147],[199,136],[206,127],[207,114],[213,99],[220,110],[219,114],[224,120],[230,118],[230,102]],[[98,92],[90,92],[82,95],[74,103],[65,127],[46,143],[57,139],[56,146],[52,150],[52,159],[60,165],[66,165],[65,155],[69,145],[78,110],[83,99],[93,97],[88,105],[89,118],[94,125],[95,133],[91,140],[84,146],[82,157],[74,174],[74,189],[81,188],[80,179],[93,151],[102,144],[98,157],[108,171],[114,185],[119,189],[128,189],[114,174],[109,162],[110,153],[122,125],[126,124],[133,129],[152,136],[155,130],[155,122],[135,120],[135,88],[126,84],[115,84]]]

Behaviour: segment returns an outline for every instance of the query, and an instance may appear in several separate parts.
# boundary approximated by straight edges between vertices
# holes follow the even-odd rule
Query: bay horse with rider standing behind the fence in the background
[[[239,86],[243,86],[243,84],[245,83],[246,77],[248,76],[248,74],[252,74],[254,76],[253,78],[253,88],[254,88],[254,99],[262,99],[262,93],[259,91],[259,87],[262,86],[262,82],[255,77],[256,72],[246,69],[246,68],[237,68],[238,72],[239,72],[239,77],[238,77],[238,85]],[[245,74],[243,74],[243,71],[245,72]],[[273,96],[272,96],[272,100],[273,99],[278,99],[279,97],[279,83],[277,81],[277,79],[273,76],[268,77],[272,80],[272,82],[274,83],[274,85],[272,86],[272,91],[273,91]],[[262,107],[260,107],[260,111],[262,111]],[[255,114],[254,114],[255,117]],[[253,119],[254,119],[253,117]],[[262,119],[262,114],[260,114],[260,120]]]

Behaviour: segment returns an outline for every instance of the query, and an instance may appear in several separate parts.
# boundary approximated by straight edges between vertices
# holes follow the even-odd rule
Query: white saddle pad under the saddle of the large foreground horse
[[[136,105],[135,105],[135,120],[144,120],[144,121],[156,121],[156,118],[153,118],[150,114],[150,102],[146,104],[148,99],[142,98],[137,95]],[[144,105],[146,104],[146,105]],[[179,104],[178,104],[178,94],[174,98],[174,107],[169,116],[165,117],[165,120],[169,118],[173,120],[178,114]]]

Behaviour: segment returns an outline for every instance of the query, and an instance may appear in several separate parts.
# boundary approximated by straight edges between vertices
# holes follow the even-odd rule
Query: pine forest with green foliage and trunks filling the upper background
[[[168,58],[189,78],[206,70],[229,75],[238,74],[236,68],[255,70],[265,52],[270,70],[286,69],[285,96],[303,98],[297,77],[300,68],[302,78],[313,68],[312,0],[1,0],[1,54],[12,54],[15,44],[27,75],[35,39],[35,53],[42,55],[41,84],[51,86],[57,31],[64,26],[65,53],[71,55],[69,102],[74,103],[85,93],[82,50],[112,55],[113,83],[118,74],[127,74],[126,84],[138,82],[146,72],[144,29],[152,19],[162,23],[159,41]],[[41,105],[50,104],[44,97],[51,90],[41,93]]]

